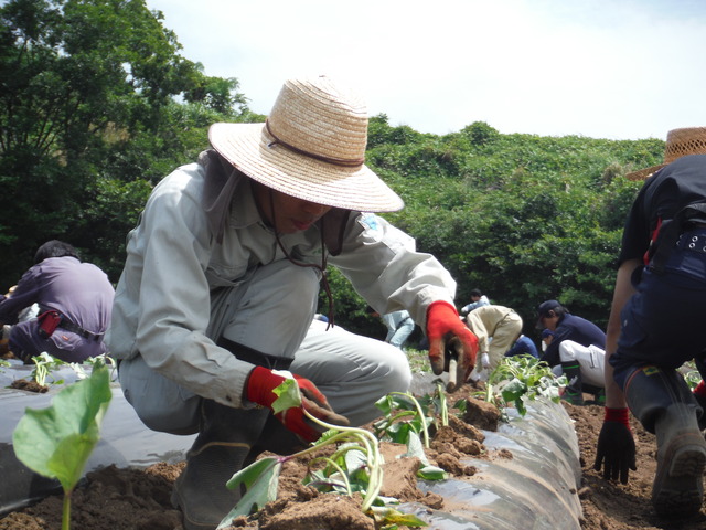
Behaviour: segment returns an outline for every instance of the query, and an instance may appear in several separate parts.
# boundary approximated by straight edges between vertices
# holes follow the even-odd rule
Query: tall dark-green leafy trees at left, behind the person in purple
[[[201,116],[248,116],[237,80],[206,76],[182,57],[162,19],[143,0],[11,0],[0,8],[0,252],[12,256],[0,263],[6,285],[47,239],[109,259],[93,255],[116,247],[95,246],[103,226],[95,215],[109,210],[96,204],[136,180],[156,182],[158,171],[207,146]],[[175,108],[183,106],[191,112]],[[132,205],[149,193],[130,190]],[[137,219],[127,210],[119,226],[109,223],[115,241]]]

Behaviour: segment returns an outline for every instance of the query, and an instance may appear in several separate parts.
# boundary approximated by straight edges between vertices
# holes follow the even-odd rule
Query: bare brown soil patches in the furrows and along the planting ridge
[[[453,395],[458,398],[458,393]],[[479,402],[480,403],[480,402]],[[608,483],[592,469],[596,439],[602,424],[603,409],[596,405],[565,404],[578,435],[584,485],[579,490],[584,518],[582,530],[703,530],[706,516],[702,511],[686,521],[662,520],[654,516],[650,491],[655,471],[654,436],[633,421],[638,447],[638,470],[631,471],[628,485]],[[496,411],[483,407],[490,421]],[[474,413],[467,413],[469,418]],[[432,464],[456,477],[472,476],[477,469],[461,463],[464,455],[474,458],[505,458],[502,452],[484,452],[483,434],[473,425],[450,416],[449,428],[440,430],[428,452]],[[483,420],[488,421],[488,418]],[[482,427],[485,428],[485,427]],[[385,484],[382,495],[402,501],[417,501],[434,509],[443,506],[435,494],[422,495],[416,488],[416,459],[397,459],[403,446],[383,443]],[[147,469],[118,469],[108,467],[88,475],[87,484],[77,488],[72,497],[72,528],[82,530],[181,530],[180,512],[170,504],[173,480],[183,467],[157,464]],[[308,530],[345,529],[374,530],[373,520],[360,511],[361,499],[334,494],[319,494],[302,486],[306,463],[290,462],[282,469],[279,498],[267,505],[257,517],[239,518],[234,527],[243,530]],[[61,529],[62,497],[50,497],[33,507],[7,515],[0,519],[0,530],[58,530]],[[325,522],[324,522],[325,521]],[[400,530],[407,527],[399,527]]]

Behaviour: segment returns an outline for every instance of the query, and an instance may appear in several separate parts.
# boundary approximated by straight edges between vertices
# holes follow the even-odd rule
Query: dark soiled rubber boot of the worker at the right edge
[[[675,370],[644,367],[625,385],[633,415],[657,438],[652,506],[660,516],[689,517],[704,501],[706,441],[698,428],[703,412]]]

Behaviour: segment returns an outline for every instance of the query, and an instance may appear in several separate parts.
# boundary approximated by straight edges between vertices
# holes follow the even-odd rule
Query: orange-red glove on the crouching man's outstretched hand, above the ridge
[[[458,384],[464,383],[475,367],[478,337],[461,321],[452,305],[440,300],[429,306],[427,337],[429,338],[429,362],[435,375],[440,375],[449,369],[450,359],[446,356],[449,349],[456,351],[458,356]]]

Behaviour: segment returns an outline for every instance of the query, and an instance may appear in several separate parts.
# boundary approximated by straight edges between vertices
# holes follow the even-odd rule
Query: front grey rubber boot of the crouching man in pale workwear
[[[269,409],[233,409],[203,400],[199,436],[186,454],[186,467],[174,483],[172,505],[183,513],[184,530],[215,529],[235,507],[240,491],[225,484],[255,459]]]

